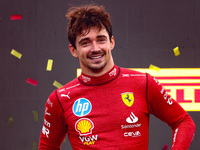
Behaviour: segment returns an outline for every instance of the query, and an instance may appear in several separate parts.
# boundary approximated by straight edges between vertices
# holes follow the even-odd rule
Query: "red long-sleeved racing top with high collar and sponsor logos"
[[[116,65],[82,73],[47,100],[39,150],[60,150],[66,134],[75,150],[147,150],[150,114],[173,130],[172,150],[189,148],[195,124],[154,77]]]

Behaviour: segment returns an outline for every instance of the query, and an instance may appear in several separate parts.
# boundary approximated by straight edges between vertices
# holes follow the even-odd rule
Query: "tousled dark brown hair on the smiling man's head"
[[[71,7],[66,17],[69,19],[67,28],[68,40],[74,48],[76,48],[76,37],[81,34],[87,34],[91,27],[97,27],[99,31],[105,28],[111,40],[112,23],[110,14],[105,11],[103,6],[89,4]],[[83,33],[83,30],[86,32]]]

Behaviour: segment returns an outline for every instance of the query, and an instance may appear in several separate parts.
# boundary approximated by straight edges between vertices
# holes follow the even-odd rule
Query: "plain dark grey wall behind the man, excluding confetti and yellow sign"
[[[70,6],[94,2],[111,14],[115,63],[126,68],[200,68],[199,0],[1,0],[0,1],[0,149],[36,150],[45,103],[79,68],[68,50],[65,18]],[[11,20],[11,15],[22,15]],[[179,46],[181,55],[174,56]],[[22,54],[18,59],[11,50]],[[52,71],[46,71],[53,59]],[[26,82],[38,81],[37,86]],[[200,149],[200,112],[188,112],[197,129],[190,150]],[[38,116],[38,119],[37,119]],[[34,118],[36,117],[36,118]],[[171,129],[151,116],[149,150],[171,145]],[[66,137],[62,150],[71,150]]]

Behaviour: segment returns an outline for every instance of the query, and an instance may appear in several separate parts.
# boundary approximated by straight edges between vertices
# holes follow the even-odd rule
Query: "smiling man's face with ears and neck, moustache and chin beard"
[[[69,49],[74,57],[79,58],[82,72],[87,75],[99,76],[114,66],[111,50],[114,38],[109,38],[105,28],[91,27],[76,37],[76,49],[70,44]]]

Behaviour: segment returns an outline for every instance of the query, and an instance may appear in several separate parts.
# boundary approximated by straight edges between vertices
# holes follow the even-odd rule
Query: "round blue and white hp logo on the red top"
[[[74,102],[73,113],[76,116],[82,117],[90,113],[92,105],[86,98],[80,98]]]

